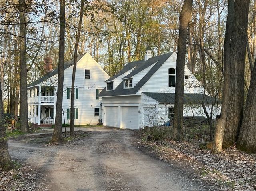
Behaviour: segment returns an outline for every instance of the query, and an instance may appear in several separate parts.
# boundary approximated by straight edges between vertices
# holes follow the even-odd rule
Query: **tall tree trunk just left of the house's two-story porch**
[[[20,6],[20,130],[25,133],[30,131],[28,126],[25,0],[19,0],[19,6]]]

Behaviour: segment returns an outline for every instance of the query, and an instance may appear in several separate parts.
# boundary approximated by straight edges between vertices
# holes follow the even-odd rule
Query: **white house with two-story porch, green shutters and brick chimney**
[[[52,70],[52,59],[44,59],[48,72],[42,78],[28,85],[28,117],[32,123],[54,123],[58,68]],[[64,62],[63,117],[62,123],[70,123],[71,81],[74,60]],[[50,70],[50,71],[49,71]],[[90,56],[82,54],[77,58],[74,124],[97,124],[101,119],[101,98],[97,97],[110,78],[102,67]]]

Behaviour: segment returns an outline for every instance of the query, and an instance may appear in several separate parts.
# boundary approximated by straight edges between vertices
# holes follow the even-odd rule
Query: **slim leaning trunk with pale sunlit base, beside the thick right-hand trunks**
[[[220,111],[220,117],[217,118],[216,129],[214,133],[214,147],[215,153],[222,152],[222,144],[224,131],[226,126],[226,117],[228,110],[228,99],[230,90],[230,40],[232,36],[232,26],[234,20],[234,0],[228,0],[228,17],[226,22],[226,31],[224,39],[224,50],[223,50],[223,92],[222,92],[222,107]]]

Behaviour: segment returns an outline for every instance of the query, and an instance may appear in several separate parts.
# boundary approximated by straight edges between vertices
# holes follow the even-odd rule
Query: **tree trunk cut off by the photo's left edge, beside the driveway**
[[[0,81],[0,168],[10,170],[14,167],[14,165],[8,151],[8,144],[6,139],[6,129],[4,125],[4,105],[1,85],[2,84]]]

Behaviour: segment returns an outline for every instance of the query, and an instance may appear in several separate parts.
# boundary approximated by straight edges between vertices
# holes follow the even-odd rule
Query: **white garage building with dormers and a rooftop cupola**
[[[152,57],[147,48],[144,60],[126,64],[106,80],[99,94],[103,125],[139,129],[169,121],[174,112],[176,58],[175,52]],[[184,83],[184,116],[205,116],[202,100],[212,103],[214,99],[207,92],[204,95],[203,86],[187,67]]]

